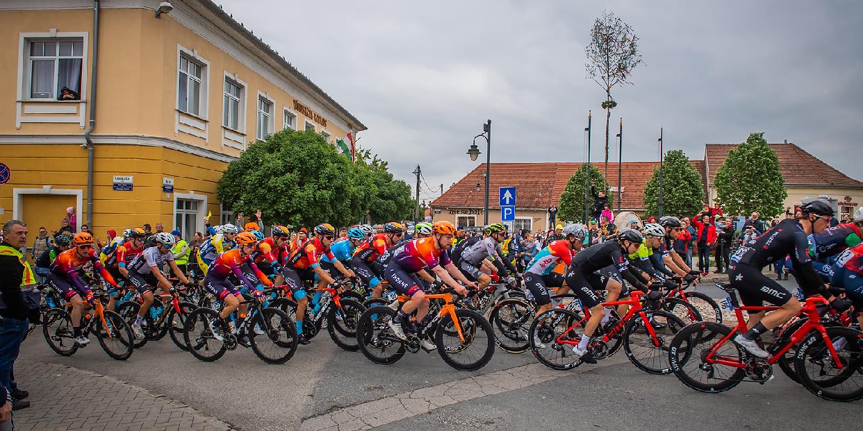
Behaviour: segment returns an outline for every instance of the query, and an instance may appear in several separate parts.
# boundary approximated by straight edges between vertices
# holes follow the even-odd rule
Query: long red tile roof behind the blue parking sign
[[[704,162],[691,160],[696,171],[704,174]],[[602,163],[593,164],[603,169]],[[644,209],[642,197],[647,180],[653,175],[653,167],[659,162],[623,162],[623,209]],[[518,208],[545,209],[557,205],[560,194],[573,173],[581,163],[492,163],[489,189],[489,208],[499,208],[497,190],[501,187],[515,186],[518,189]],[[450,190],[431,201],[431,207],[479,208],[484,204],[485,164],[476,166]],[[608,163],[609,184],[617,186],[617,163]],[[480,189],[476,190],[476,184]],[[614,202],[616,206],[616,198]]]

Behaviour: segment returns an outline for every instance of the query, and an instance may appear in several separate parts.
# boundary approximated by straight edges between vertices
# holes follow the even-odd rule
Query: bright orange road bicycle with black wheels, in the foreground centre
[[[401,340],[389,328],[397,312],[388,306],[375,306],[365,310],[356,324],[356,341],[362,354],[375,364],[394,364],[405,351],[426,352],[420,337],[431,340],[440,357],[460,371],[476,371],[488,364],[494,355],[494,332],[485,317],[470,309],[457,308],[450,289],[438,294],[426,294],[431,300],[429,315],[418,334],[407,334]],[[399,295],[399,307],[410,299]]]

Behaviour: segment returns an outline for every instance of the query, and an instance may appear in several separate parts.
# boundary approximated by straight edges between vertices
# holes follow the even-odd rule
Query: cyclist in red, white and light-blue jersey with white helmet
[[[525,285],[539,305],[536,315],[551,309],[551,295],[548,288],[559,288],[564,285],[564,275],[554,272],[554,268],[560,263],[567,266],[572,263],[572,257],[583,246],[582,241],[587,231],[580,225],[569,224],[561,230],[561,234],[564,235],[563,240],[552,241],[540,250],[525,269]]]

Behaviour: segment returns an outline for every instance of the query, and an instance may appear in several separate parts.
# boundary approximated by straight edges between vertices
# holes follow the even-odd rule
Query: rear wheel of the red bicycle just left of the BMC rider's
[[[581,321],[582,316],[569,309],[552,308],[539,315],[528,333],[533,356],[555,370],[581,365],[582,360],[572,352],[572,347],[582,339],[583,327],[577,324]]]

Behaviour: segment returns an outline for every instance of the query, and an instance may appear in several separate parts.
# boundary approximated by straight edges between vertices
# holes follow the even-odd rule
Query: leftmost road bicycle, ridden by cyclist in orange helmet
[[[135,349],[132,328],[123,321],[121,315],[104,309],[107,301],[107,293],[94,292],[93,299],[89,305],[85,305],[81,316],[81,331],[83,334],[95,335],[99,345],[111,358],[129,359]],[[62,356],[72,356],[79,348],[85,347],[74,340],[72,317],[69,314],[71,309],[72,304],[67,304],[66,309],[49,309],[42,317],[42,334],[48,346]]]

